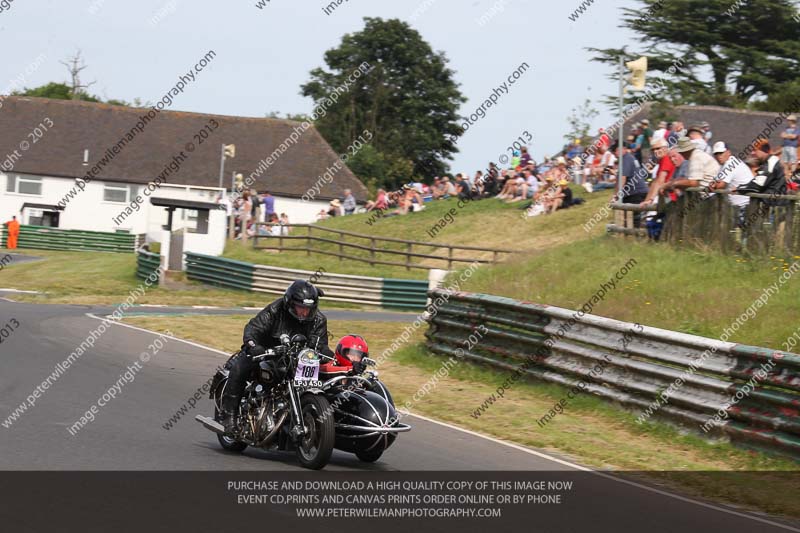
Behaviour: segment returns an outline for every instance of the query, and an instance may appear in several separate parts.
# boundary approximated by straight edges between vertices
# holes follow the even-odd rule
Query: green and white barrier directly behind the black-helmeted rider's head
[[[292,281],[306,279],[323,290],[325,300],[385,308],[422,309],[427,302],[428,282],[423,280],[295,270],[196,253],[186,253],[186,274],[219,287],[270,294],[283,294]]]

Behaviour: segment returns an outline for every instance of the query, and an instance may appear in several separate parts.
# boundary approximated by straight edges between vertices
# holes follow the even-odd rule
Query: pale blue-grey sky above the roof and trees
[[[614,121],[600,102],[617,86],[607,78],[608,66],[590,61],[586,47],[633,44],[618,21],[621,7],[635,5],[595,2],[573,21],[569,15],[580,0],[345,0],[327,14],[323,8],[331,0],[261,0],[261,9],[259,0],[6,2],[0,0],[0,93],[66,81],[60,61],[80,50],[87,65],[82,81],[96,82],[89,92],[154,103],[213,50],[213,61],[170,109],[247,117],[310,113],[313,102],[300,95],[300,86],[313,68],[324,66],[326,50],[363,28],[365,16],[405,20],[445,53],[468,98],[462,115],[527,63],[458,140],[451,170],[470,173],[502,160],[520,136],[532,136],[536,158],[554,154],[571,109],[587,97],[600,111],[594,130]]]

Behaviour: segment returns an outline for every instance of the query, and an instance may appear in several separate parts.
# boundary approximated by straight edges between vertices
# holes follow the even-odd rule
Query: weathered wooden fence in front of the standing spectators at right
[[[688,189],[675,202],[663,197],[656,209],[638,204],[614,203],[622,213],[609,233],[648,236],[643,221],[635,228],[633,214],[658,213],[663,220],[660,240],[676,246],[694,246],[722,253],[754,255],[800,255],[800,196],[749,193],[750,202],[739,213],[728,201],[727,191],[703,199],[699,188]]]

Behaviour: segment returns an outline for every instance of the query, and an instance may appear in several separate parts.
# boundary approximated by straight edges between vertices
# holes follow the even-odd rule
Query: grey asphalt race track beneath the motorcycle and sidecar
[[[86,339],[89,331],[100,325],[99,319],[90,315],[103,310],[111,308],[0,300],[0,327],[12,320],[19,324],[0,344],[0,422],[7,424],[7,417],[20,403]],[[339,313],[367,320],[387,318],[386,313],[353,311],[329,315],[340,318]],[[393,318],[402,319],[402,313],[397,315]],[[404,316],[407,319],[409,315]],[[216,437],[193,420],[195,414],[210,414],[211,401],[207,398],[170,430],[164,429],[214,368],[226,360],[225,354],[177,339],[167,339],[149,362],[140,363],[135,379],[121,387],[93,422],[71,435],[68,427],[118,382],[127,368],[139,362],[140,354],[157,337],[138,328],[112,325],[33,407],[8,427],[0,427],[0,470],[303,471],[292,453],[250,449],[243,455],[224,452]],[[585,470],[582,467],[549,454],[427,419],[411,417],[408,421],[413,430],[401,435],[377,463],[365,464],[353,455],[335,451],[320,475],[364,471],[577,472],[604,486],[595,495],[598,500],[594,505],[581,502],[581,512],[589,518],[598,513],[597,519],[604,522],[613,518],[618,524],[634,526],[633,530],[800,531],[796,525],[769,517],[671,496],[610,476],[586,474],[581,472]],[[608,502],[601,503],[602,498]],[[658,527],[667,524],[669,528]]]

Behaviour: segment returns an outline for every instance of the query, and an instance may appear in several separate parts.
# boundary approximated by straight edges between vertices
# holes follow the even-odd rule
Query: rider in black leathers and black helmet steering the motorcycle
[[[328,347],[328,319],[317,308],[323,292],[308,281],[294,281],[286,293],[262,309],[244,328],[241,351],[229,362],[230,374],[222,396],[222,424],[226,434],[239,426],[239,404],[247,379],[258,368],[252,357],[281,346],[281,335],[302,334],[310,347],[333,357]]]

